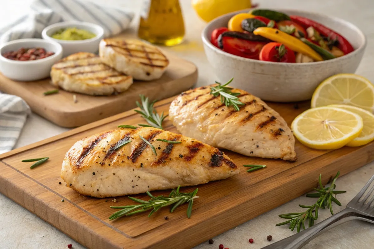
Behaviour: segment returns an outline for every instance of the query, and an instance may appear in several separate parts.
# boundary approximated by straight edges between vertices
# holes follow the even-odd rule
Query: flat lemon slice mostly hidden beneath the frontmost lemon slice
[[[331,107],[342,108],[344,110],[357,113],[361,116],[364,121],[364,128],[358,137],[347,143],[347,146],[356,147],[361,146],[367,143],[370,143],[374,140],[374,115],[371,112],[368,112],[364,109],[348,106],[348,105],[330,105]]]

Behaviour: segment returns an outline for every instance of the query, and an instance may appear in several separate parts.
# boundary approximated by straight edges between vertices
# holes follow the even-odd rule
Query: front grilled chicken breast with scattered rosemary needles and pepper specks
[[[155,147],[157,156],[140,136]],[[128,140],[131,142],[116,149]],[[61,178],[81,194],[108,197],[203,184],[238,173],[234,162],[220,150],[147,127],[121,128],[77,141],[66,153]]]

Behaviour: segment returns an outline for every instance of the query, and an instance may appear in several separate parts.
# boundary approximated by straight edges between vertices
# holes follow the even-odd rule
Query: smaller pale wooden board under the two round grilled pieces
[[[165,52],[163,52],[165,53]],[[196,66],[187,60],[165,53],[170,63],[162,77],[153,81],[134,81],[123,93],[112,96],[89,96],[60,90],[58,94],[44,96],[55,89],[50,78],[20,82],[6,78],[0,73],[0,91],[24,99],[40,116],[62,127],[77,127],[137,107],[139,94],[151,100],[161,100],[191,88],[197,80]],[[73,94],[77,103],[73,102]]]

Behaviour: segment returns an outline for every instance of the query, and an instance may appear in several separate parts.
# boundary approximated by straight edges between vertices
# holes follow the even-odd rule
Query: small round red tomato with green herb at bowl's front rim
[[[271,42],[260,51],[260,60],[272,62],[295,62],[295,53],[282,43]]]

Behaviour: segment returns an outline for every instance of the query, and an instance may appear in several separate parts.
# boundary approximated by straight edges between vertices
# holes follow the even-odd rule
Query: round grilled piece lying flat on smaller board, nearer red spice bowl
[[[103,64],[92,53],[75,53],[52,66],[51,84],[66,91],[89,95],[110,95],[127,90],[132,77]]]

